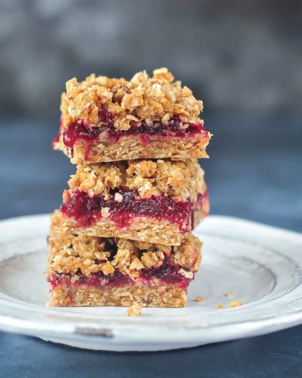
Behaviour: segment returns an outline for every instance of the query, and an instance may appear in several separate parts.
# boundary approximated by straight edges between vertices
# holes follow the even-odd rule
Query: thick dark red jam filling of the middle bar
[[[114,200],[112,191],[108,200],[101,194],[89,197],[86,192],[75,190],[61,206],[61,212],[67,217],[74,217],[77,227],[89,227],[102,219],[102,208],[109,208],[108,219],[119,229],[128,228],[135,217],[152,217],[157,220],[168,220],[177,223],[182,233],[190,231],[189,219],[193,204],[183,201],[173,201],[170,197],[152,196],[140,198],[137,190],[119,191],[123,199]]]

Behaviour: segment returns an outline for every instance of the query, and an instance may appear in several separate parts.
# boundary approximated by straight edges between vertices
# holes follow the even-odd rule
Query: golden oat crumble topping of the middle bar
[[[195,201],[198,193],[206,191],[203,176],[197,159],[128,160],[78,165],[68,185],[70,191],[78,189],[90,195],[103,194],[105,200],[109,198],[111,189],[120,188],[137,189],[141,198],[165,195],[173,200],[190,197],[191,201]],[[114,199],[122,201],[123,198],[116,193]]]

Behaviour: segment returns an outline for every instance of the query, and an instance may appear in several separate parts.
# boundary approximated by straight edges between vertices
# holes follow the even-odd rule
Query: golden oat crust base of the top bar
[[[54,150],[61,150],[70,158],[72,164],[100,163],[119,160],[134,159],[163,159],[163,158],[208,158],[206,146],[209,144],[211,134],[200,134],[194,138],[166,138],[151,141],[149,146],[143,146],[140,139],[135,136],[121,138],[117,143],[93,141],[86,160],[87,143],[77,141],[71,149],[63,143],[61,134],[58,142],[54,142]]]

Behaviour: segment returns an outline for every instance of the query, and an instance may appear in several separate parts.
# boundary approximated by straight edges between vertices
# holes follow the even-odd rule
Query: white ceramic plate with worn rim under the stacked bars
[[[95,350],[193,347],[302,323],[302,234],[229,217],[208,217],[200,271],[186,308],[54,308],[46,270],[49,215],[0,222],[0,329]],[[225,296],[234,291],[235,297]],[[195,302],[196,296],[203,302]],[[231,300],[243,306],[228,308]],[[222,304],[223,310],[216,309]]]

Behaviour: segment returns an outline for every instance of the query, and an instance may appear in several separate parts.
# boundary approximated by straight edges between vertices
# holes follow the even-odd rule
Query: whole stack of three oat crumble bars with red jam
[[[53,148],[78,165],[51,217],[51,305],[185,306],[209,212],[201,110],[166,68],[66,83]]]

